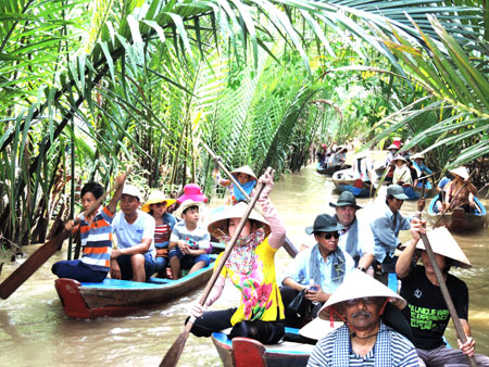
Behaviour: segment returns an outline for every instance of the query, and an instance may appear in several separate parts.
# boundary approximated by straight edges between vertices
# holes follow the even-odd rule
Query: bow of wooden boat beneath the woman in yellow
[[[299,330],[293,328],[286,328],[286,333],[292,333],[299,336]],[[246,338],[239,338],[238,341],[241,341]],[[239,367],[244,366],[242,360],[242,353],[238,354],[237,351],[234,351],[234,343],[231,340],[227,338],[227,334],[224,332],[214,332],[212,333],[212,342],[214,343],[217,353],[221,357],[221,362],[224,367]],[[246,341],[244,341],[246,342]],[[252,342],[254,346],[251,346],[251,351],[255,347],[260,349],[260,343],[256,341]],[[256,346],[258,343],[258,346]],[[263,350],[261,351],[262,358],[265,360],[265,365],[267,367],[302,367],[308,365],[309,356],[311,355],[314,345],[312,344],[303,344],[296,342],[281,342],[279,344],[272,345],[261,345]],[[247,357],[254,357],[258,363],[254,360],[249,360],[248,366],[260,366],[260,359],[256,358],[252,352]]]

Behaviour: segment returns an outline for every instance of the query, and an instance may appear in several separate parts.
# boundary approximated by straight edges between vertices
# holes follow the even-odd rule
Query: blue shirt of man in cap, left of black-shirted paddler
[[[387,204],[378,208],[378,216],[371,223],[375,240],[374,257],[377,262],[384,262],[387,254],[393,256],[399,243],[399,232],[410,229],[410,226],[411,218],[403,217],[399,211],[393,214]]]

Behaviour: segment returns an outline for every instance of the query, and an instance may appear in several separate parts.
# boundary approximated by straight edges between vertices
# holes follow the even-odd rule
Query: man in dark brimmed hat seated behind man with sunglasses
[[[374,276],[374,248],[375,240],[369,223],[365,218],[359,218],[356,211],[362,206],[356,205],[356,199],[350,191],[343,191],[336,203],[329,206],[335,208],[335,218],[343,226],[340,230],[338,246],[347,252],[355,262],[355,267]]]

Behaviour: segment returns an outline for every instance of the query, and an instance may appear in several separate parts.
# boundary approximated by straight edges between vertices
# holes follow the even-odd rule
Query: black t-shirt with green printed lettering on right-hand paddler
[[[450,274],[446,283],[459,317],[467,320],[467,286]],[[450,312],[440,288],[428,280],[423,266],[417,265],[408,277],[401,279],[401,296],[408,301],[402,313],[413,331],[414,346],[432,350],[444,345],[442,337],[450,320]]]

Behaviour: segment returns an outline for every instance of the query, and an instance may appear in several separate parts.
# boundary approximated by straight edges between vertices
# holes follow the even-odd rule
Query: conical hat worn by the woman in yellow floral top
[[[221,206],[213,210],[211,212],[211,222],[208,226],[209,232],[215,238],[222,237],[223,233],[228,235],[227,220],[230,218],[242,218],[247,208],[247,203],[239,202],[233,206]],[[248,219],[261,224],[265,229],[266,236],[269,235],[271,228],[268,222],[266,222],[266,219],[255,210],[251,211]]]

